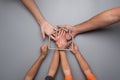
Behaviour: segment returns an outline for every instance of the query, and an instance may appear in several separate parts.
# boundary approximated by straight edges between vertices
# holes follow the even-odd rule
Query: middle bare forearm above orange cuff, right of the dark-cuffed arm
[[[64,51],[60,51],[60,60],[61,60],[61,65],[62,65],[62,70],[64,75],[65,76],[71,75],[70,66]]]

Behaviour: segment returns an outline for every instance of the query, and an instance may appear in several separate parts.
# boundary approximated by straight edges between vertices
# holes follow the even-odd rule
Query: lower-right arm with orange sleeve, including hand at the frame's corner
[[[75,43],[70,43],[69,44],[69,49],[71,49],[71,52],[73,53],[73,55],[76,57],[82,71],[84,72],[84,74],[86,75],[86,77],[91,74],[92,75],[92,79],[89,79],[89,77],[87,77],[88,80],[96,80],[95,75],[92,73],[92,70],[90,69],[90,66],[88,65],[87,61],[84,59],[84,57],[82,56],[81,52],[79,51],[77,45]]]

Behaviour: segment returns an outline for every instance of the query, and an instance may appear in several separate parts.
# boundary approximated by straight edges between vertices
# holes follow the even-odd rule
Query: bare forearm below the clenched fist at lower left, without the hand
[[[44,58],[42,56],[40,56],[35,63],[32,65],[32,67],[29,69],[29,71],[27,72],[24,80],[33,80],[38,72],[38,69],[42,63],[42,61],[44,60]]]

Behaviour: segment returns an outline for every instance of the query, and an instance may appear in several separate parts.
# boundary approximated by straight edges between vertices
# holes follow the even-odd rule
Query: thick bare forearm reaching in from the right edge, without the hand
[[[120,8],[114,8],[105,12],[102,12],[86,22],[75,25],[77,33],[83,33],[99,28],[106,27],[113,23],[120,21]]]

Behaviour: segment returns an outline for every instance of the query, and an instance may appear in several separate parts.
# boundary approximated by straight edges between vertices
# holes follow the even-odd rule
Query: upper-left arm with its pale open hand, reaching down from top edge
[[[54,31],[54,27],[49,24],[46,19],[42,16],[39,8],[37,7],[34,0],[21,0],[25,7],[32,13],[35,17],[37,23],[41,26],[41,32],[43,39],[45,39],[45,34],[50,35]]]

